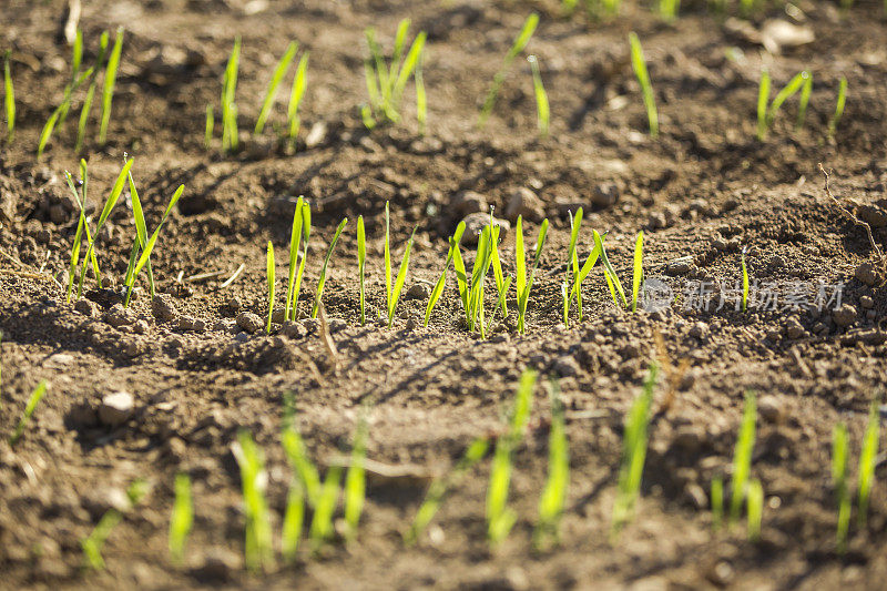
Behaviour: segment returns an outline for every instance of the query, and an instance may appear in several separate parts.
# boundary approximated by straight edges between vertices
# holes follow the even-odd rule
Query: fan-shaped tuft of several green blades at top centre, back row
[[[369,129],[373,129],[378,122],[397,123],[400,121],[400,102],[404,98],[404,90],[409,78],[411,75],[416,78],[415,73],[418,70],[425,40],[428,37],[425,31],[420,31],[405,57],[404,50],[407,44],[409,26],[409,19],[404,19],[398,24],[390,63],[386,63],[383,49],[376,40],[376,30],[370,27],[365,31],[370,53],[364,62],[369,104],[361,109],[361,118],[364,124]],[[420,92],[422,96],[425,94],[425,85],[421,85],[421,91],[418,90],[418,86],[419,82],[417,82],[417,100]],[[425,116],[424,113],[422,116]],[[420,125],[424,125],[421,121]]]

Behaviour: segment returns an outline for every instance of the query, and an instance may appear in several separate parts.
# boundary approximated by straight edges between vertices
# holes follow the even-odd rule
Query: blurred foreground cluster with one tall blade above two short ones
[[[746,533],[756,541],[761,537],[761,521],[764,511],[764,489],[761,481],[752,479],[752,451],[755,445],[757,403],[753,391],[745,394],[740,435],[733,454],[733,477],[731,480],[728,523],[736,523],[746,502]],[[724,521],[724,481],[718,476],[712,480],[712,523],[718,529]]]

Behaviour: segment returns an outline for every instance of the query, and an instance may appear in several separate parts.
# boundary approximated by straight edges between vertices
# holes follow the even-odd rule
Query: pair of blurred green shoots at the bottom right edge
[[[875,482],[875,467],[878,457],[878,439],[880,437],[880,419],[878,414],[879,399],[871,401],[868,412],[868,424],[863,436],[863,449],[859,454],[859,475],[857,490],[856,523],[864,528],[868,520],[868,503],[871,488]],[[847,551],[847,534],[850,529],[852,499],[849,483],[847,482],[847,460],[849,456],[849,436],[847,426],[843,422],[835,426],[832,436],[832,483],[835,489],[835,500],[838,506],[836,543],[838,553]]]

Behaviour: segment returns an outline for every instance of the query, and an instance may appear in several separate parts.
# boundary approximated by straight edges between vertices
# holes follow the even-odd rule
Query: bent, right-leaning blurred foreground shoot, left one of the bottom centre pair
[[[508,507],[508,489],[511,486],[512,456],[530,419],[537,376],[533,369],[524,369],[521,374],[508,432],[496,442],[487,488],[487,537],[491,546],[504,540],[518,519],[517,512]]]

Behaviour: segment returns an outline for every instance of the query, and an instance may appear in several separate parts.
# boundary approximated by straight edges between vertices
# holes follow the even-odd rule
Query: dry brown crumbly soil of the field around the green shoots
[[[150,227],[174,187],[186,185],[152,262],[159,289],[171,296],[177,314],[205,320],[204,332],[155,318],[144,289],[132,306],[144,322],[130,319],[114,328],[105,308],[115,292],[86,294],[98,307],[88,317],[65,304],[53,278],[65,268],[77,226],[63,179],[64,170],[77,167],[73,121],[40,162],[34,152],[70,75],[70,50],[57,38],[63,4],[7,1],[2,9],[0,49],[13,50],[19,131],[0,152],[0,587],[210,585],[215,583],[207,579],[207,564],[227,550],[224,562],[234,562],[227,564],[232,569],[216,564],[215,574],[231,587],[884,588],[884,456],[867,526],[854,524],[843,558],[835,551],[829,458],[832,429],[846,421],[855,481],[866,411],[885,378],[887,292],[864,228],[826,195],[817,169],[819,162],[834,169],[837,200],[869,220],[879,248],[887,248],[887,29],[873,17],[879,14],[878,3],[863,2],[842,17],[832,3],[799,2],[802,26],[815,40],[772,55],[733,32],[735,27],[704,14],[701,2],[684,7],[686,16],[665,26],[634,8],[608,24],[589,24],[580,16],[561,19],[551,10],[557,2],[272,0],[247,14],[244,7],[258,4],[86,1],[81,26],[90,52],[103,29],[126,28],[109,144],[90,142],[84,153],[92,204],[98,207],[96,195],[110,190],[124,152],[135,159]],[[488,83],[533,8],[542,11],[542,22],[529,49],[540,57],[551,99],[551,137],[536,136],[523,60],[516,62],[488,126],[478,131]],[[782,10],[768,16],[791,20]],[[389,47],[404,17],[429,31],[425,139],[417,134],[411,90],[401,126],[369,133],[358,115],[366,100],[363,29],[377,26]],[[644,134],[645,115],[628,61],[629,30],[640,34],[650,63],[659,141]],[[274,61],[297,39],[310,50],[302,137],[325,125],[319,142],[295,154],[248,136],[234,156],[203,149],[204,110],[217,101],[235,34],[243,35],[244,45],[237,93],[242,128],[252,129]],[[743,58],[728,59],[730,48],[738,48]],[[805,128],[791,129],[792,100],[764,143],[753,137],[762,64],[776,88],[804,68],[815,81]],[[849,82],[847,110],[837,137],[828,140],[825,130],[842,74]],[[273,115],[278,123],[283,109],[278,104]],[[608,184],[618,201],[592,205],[592,196]],[[385,306],[386,200],[397,261],[418,225],[409,288],[440,273],[446,237],[458,221],[453,195],[477,191],[501,213],[519,187],[539,195],[552,224],[527,336],[514,333],[513,302],[491,338],[467,334],[451,275],[429,328],[418,327],[425,299],[402,300],[392,329],[375,322],[358,326],[358,215],[370,242],[367,289],[375,320]],[[303,310],[327,241],[343,216],[350,220],[325,293],[336,366],[316,332],[244,338],[231,328],[238,310],[266,313],[268,240],[277,247],[277,276],[285,276],[288,217],[299,194],[314,204],[316,231]],[[121,204],[98,242],[105,274],[118,277],[134,235],[132,212]],[[675,305],[632,315],[614,308],[595,269],[585,282],[584,320],[574,317],[565,329],[560,282],[567,212],[580,204],[587,210],[583,258],[590,228],[609,231],[610,257],[625,285],[634,235],[644,230],[648,273],[663,276],[679,296],[692,279],[735,284],[747,246],[753,281],[783,287],[843,282],[844,302],[854,310],[742,314]],[[532,242],[538,225],[529,224],[527,232]],[[502,245],[507,271],[513,271],[513,248],[510,232]],[[679,268],[673,262],[680,257],[691,263]],[[223,289],[222,282],[241,263],[244,273]],[[859,272],[863,263],[873,265],[874,276]],[[176,282],[180,274],[214,271],[223,275]],[[278,294],[284,289],[278,282]],[[683,360],[689,366],[683,374],[675,370],[679,387],[671,406],[665,405],[667,386],[656,390],[642,500],[633,523],[611,543],[623,418],[655,358],[656,334],[665,345],[661,355],[674,367]],[[516,458],[510,502],[520,517],[497,550],[485,539],[486,460],[445,503],[434,536],[412,549],[404,548],[399,533],[422,499],[422,481],[377,478],[370,481],[355,542],[335,543],[319,557],[304,554],[298,565],[261,577],[238,567],[244,517],[231,445],[245,428],[264,447],[277,531],[290,478],[278,435],[286,393],[296,395],[299,429],[320,463],[347,452],[360,405],[368,403],[369,457],[434,475],[446,471],[472,438],[501,431],[517,379],[528,366],[562,376],[572,480],[560,548],[534,552],[531,543],[550,416],[540,386],[530,432]],[[41,379],[49,381],[49,394],[12,448],[6,434]],[[761,397],[753,476],[763,483],[766,508],[757,543],[747,541],[742,528],[713,533],[706,501],[712,477],[730,473],[748,389]],[[112,428],[98,420],[96,409],[116,390],[131,393],[135,408],[125,424]],[[196,512],[183,569],[171,565],[166,549],[179,471],[192,477]],[[110,506],[112,492],[136,478],[147,479],[151,491],[111,533],[108,569],[83,570],[80,539]]]

